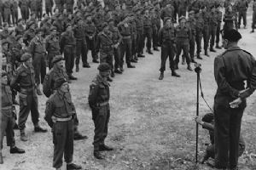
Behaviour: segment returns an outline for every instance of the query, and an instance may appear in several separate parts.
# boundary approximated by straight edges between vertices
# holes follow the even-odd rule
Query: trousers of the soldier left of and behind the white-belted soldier
[[[37,125],[39,122],[39,112],[38,112],[38,95],[35,92],[35,89],[30,89],[30,92],[26,94],[20,93],[20,113],[18,126],[20,130],[26,127],[26,120],[31,112],[32,122],[34,125]]]

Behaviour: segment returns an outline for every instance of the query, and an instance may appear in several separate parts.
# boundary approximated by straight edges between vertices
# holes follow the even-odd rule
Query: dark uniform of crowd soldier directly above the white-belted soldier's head
[[[74,59],[76,57],[76,38],[73,31],[61,34],[61,54],[64,53],[67,74],[73,73]]]

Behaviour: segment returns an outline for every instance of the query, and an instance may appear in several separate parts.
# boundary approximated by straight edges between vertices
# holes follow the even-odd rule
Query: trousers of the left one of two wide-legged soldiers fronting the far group
[[[162,44],[160,72],[166,71],[166,59],[168,59],[168,57],[170,69],[171,71],[174,71],[174,56],[175,51],[173,49],[173,44]]]

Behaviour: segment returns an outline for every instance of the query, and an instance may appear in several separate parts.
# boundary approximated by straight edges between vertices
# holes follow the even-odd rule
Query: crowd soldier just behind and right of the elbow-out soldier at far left
[[[33,67],[35,69],[35,79],[37,83],[37,93],[42,95],[40,90],[40,83],[44,82],[44,77],[46,74],[46,54],[45,42],[42,37],[42,30],[37,28],[36,37],[32,39],[29,44],[29,50],[32,54]],[[41,78],[40,78],[41,77]]]

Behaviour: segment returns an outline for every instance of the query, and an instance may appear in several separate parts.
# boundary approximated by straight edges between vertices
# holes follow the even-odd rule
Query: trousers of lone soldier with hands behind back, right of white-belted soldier
[[[101,106],[97,111],[92,111],[92,119],[94,122],[94,150],[98,151],[100,145],[104,144],[108,136],[108,122],[110,117],[109,105]]]

